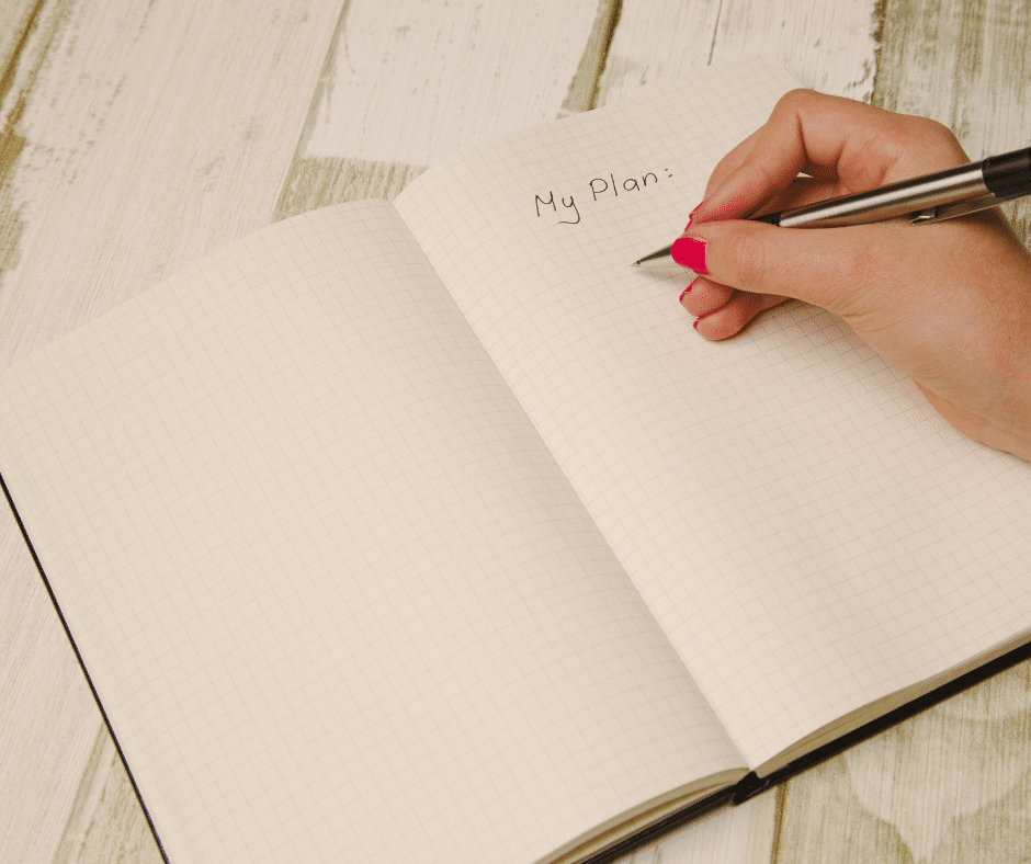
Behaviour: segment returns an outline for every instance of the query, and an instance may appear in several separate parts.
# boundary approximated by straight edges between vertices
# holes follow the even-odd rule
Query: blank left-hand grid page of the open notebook
[[[743,764],[386,203],[69,334],[0,417],[173,862],[529,864]]]

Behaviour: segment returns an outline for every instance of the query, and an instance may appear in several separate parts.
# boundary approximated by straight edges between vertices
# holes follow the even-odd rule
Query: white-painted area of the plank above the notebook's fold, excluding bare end
[[[305,155],[432,164],[551,120],[597,0],[351,0]]]

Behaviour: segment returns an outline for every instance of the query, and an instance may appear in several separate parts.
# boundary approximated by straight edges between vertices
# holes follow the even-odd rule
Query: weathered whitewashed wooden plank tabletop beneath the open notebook
[[[739,53],[974,158],[1031,141],[1027,0],[0,0],[0,363],[270,220]],[[1031,664],[634,860],[660,857],[1028,861]],[[0,862],[159,860],[4,510]]]

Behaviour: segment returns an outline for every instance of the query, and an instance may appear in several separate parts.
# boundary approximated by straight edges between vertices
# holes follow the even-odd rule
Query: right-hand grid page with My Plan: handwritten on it
[[[396,202],[751,764],[1031,622],[1028,465],[831,315],[792,304],[712,344],[687,275],[628,266],[792,86],[712,67]]]

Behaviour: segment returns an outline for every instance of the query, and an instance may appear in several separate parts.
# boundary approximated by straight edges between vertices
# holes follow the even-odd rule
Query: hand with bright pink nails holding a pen
[[[933,121],[793,91],[713,172],[673,250],[700,274],[680,302],[709,340],[789,297],[829,309],[953,427],[1031,461],[1031,255],[1001,213],[921,227],[743,220],[968,161]]]

